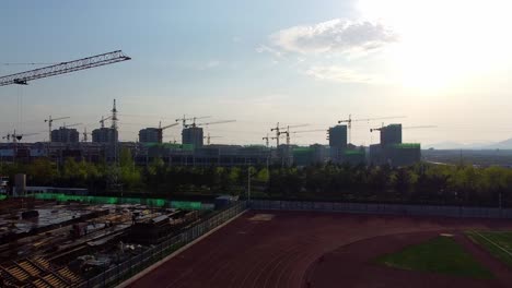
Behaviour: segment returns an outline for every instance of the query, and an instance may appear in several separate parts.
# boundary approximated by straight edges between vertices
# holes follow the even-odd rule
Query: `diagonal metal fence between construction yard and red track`
[[[202,220],[201,223],[195,225],[190,229],[187,229],[186,231],[183,231],[179,235],[165,239],[160,244],[146,250],[141,254],[133,255],[123,263],[119,263],[115,266],[110,266],[108,269],[104,271],[100,275],[86,279],[86,281],[82,283],[78,287],[113,287],[117,284],[120,284],[124,280],[140,273],[144,268],[149,267],[150,265],[170,255],[177,249],[190,243],[191,241],[203,236],[213,228],[219,227],[220,225],[224,224],[225,221],[238,215],[245,209],[245,202],[236,203],[234,206],[222,211],[210,218]]]

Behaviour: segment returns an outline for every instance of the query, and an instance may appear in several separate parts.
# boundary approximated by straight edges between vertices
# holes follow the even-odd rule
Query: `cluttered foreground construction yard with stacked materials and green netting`
[[[216,214],[214,203],[75,199],[0,202],[1,287],[78,287]]]

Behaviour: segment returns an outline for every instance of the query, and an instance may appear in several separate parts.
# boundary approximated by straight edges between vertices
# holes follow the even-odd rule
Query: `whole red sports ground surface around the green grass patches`
[[[508,287],[512,272],[466,239],[509,220],[251,211],[129,287]],[[496,278],[400,271],[374,259],[453,233]]]

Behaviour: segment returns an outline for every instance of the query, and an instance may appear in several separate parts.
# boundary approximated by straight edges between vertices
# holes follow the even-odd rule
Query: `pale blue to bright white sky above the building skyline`
[[[38,133],[44,119],[92,131],[119,111],[120,140],[211,116],[212,143],[264,144],[277,122],[327,130],[351,115],[404,127],[404,142],[512,137],[512,2],[508,0],[24,1],[0,9],[0,75],[123,50],[131,61],[0,87],[0,133]],[[199,122],[199,121],[198,121]],[[55,127],[63,122],[56,121]],[[214,137],[214,139],[213,139]],[[181,140],[181,128],[164,141]],[[292,144],[327,143],[324,131]]]

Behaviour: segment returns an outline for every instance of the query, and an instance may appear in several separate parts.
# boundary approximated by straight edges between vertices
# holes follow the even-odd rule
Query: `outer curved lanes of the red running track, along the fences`
[[[275,217],[267,221],[251,220],[255,214],[272,214]],[[316,266],[324,257],[330,259],[330,252],[375,237],[456,232],[468,228],[510,229],[512,224],[504,220],[442,217],[249,212],[137,279],[129,287],[295,288],[307,287],[307,281],[312,281],[311,287],[314,288],[341,287],[346,280],[356,283],[348,278],[341,279],[336,272],[330,272],[328,277],[323,275],[326,283],[340,283],[322,286],[315,276],[321,271]],[[385,244],[380,247],[385,248]],[[379,249],[373,254],[377,256]],[[357,262],[352,263],[359,265]],[[372,287],[364,284],[364,278],[357,286]]]

